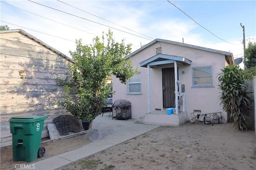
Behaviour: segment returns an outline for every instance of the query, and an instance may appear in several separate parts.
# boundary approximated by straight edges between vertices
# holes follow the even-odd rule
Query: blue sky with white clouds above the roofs
[[[160,38],[231,52],[236,59],[244,56],[242,26],[246,47],[256,42],[255,0],[0,2],[1,26],[22,29],[68,57],[76,40],[91,44],[109,29],[116,42],[132,43],[132,51]]]

